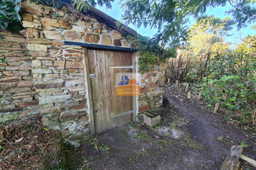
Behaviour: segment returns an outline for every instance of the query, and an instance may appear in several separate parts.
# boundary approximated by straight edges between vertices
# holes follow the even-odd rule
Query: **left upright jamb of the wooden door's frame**
[[[93,115],[93,107],[92,107],[92,87],[91,80],[89,77],[89,63],[88,63],[88,50],[84,49],[84,62],[85,62],[85,82],[87,83],[87,104],[88,104],[88,114],[89,114],[89,124],[91,128],[91,133],[95,134],[95,124],[94,124],[94,115]]]

